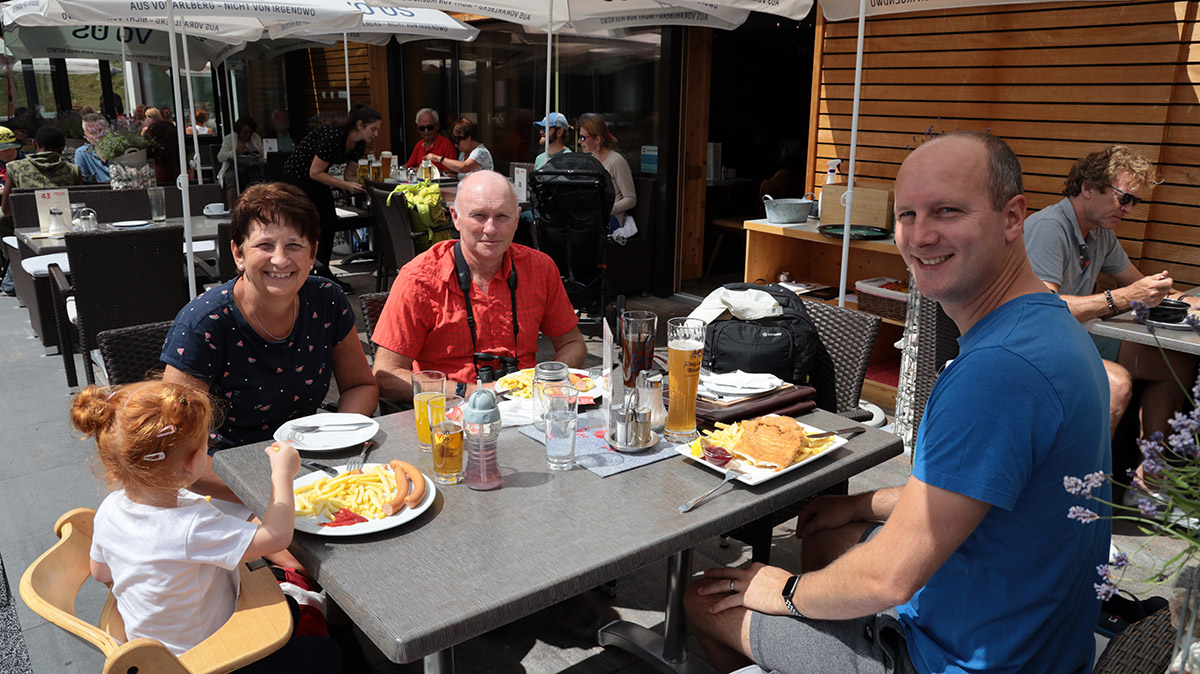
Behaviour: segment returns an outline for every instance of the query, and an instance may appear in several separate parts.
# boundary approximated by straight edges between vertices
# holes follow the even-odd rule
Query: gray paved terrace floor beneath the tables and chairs
[[[356,265],[362,272],[367,265]],[[374,282],[366,273],[349,281],[359,291],[371,291]],[[356,306],[356,297],[352,297]],[[634,303],[667,315],[685,311],[678,302],[656,299]],[[664,320],[665,319],[660,319]],[[361,326],[361,321],[360,321]],[[594,342],[593,342],[594,343]],[[82,375],[80,375],[82,377]],[[0,295],[0,401],[4,413],[4,437],[0,438],[0,555],[2,568],[16,595],[25,567],[54,541],[54,520],[70,508],[96,507],[106,494],[104,485],[92,474],[92,445],[72,437],[67,422],[70,392],[62,374],[61,359],[47,356],[29,326],[28,313],[14,297]],[[852,481],[852,491],[899,485],[907,477],[906,457],[898,457]],[[799,546],[791,524],[776,529],[773,561],[798,567]],[[1129,552],[1145,543],[1138,536],[1118,537]],[[1156,543],[1139,555],[1171,554],[1171,547]],[[733,541],[721,548],[716,540],[696,549],[694,566],[740,564],[749,552]],[[510,624],[456,649],[458,672],[498,674],[642,674],[654,672],[630,656],[595,645],[595,627],[622,618],[661,631],[665,588],[665,564],[656,562],[620,578],[616,596],[587,592],[558,607]],[[88,583],[78,612],[95,619],[100,613],[103,586]],[[0,592],[0,600],[4,600]],[[7,602],[0,602],[0,672],[29,670],[38,674],[94,674],[103,660],[82,640],[47,624],[30,612],[19,597],[14,600],[19,633],[13,621],[2,620]],[[22,646],[28,646],[25,660]],[[695,648],[692,648],[695,651]],[[419,672],[419,666],[395,666],[366,645],[370,666],[356,670]]]

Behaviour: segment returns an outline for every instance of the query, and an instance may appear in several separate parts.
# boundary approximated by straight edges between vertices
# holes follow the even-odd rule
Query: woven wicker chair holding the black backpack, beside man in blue
[[[866,366],[871,362],[875,338],[883,319],[824,302],[803,301],[827,353],[812,369],[817,405],[854,421],[870,419],[871,414],[858,407],[858,398],[863,392],[863,378],[866,377]],[[848,483],[841,482],[822,494],[845,494],[848,488]],[[728,536],[749,544],[754,561],[768,564],[773,530],[796,517],[808,501],[805,499],[761,517],[731,531]]]

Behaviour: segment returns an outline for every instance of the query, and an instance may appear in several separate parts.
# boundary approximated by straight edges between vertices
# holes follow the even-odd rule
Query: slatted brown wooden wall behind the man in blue
[[[1111,144],[1160,185],[1117,236],[1140,269],[1200,284],[1196,2],[1036,2],[866,19],[857,174],[892,180],[930,136],[991,131],[1021,160],[1030,209],[1061,198],[1074,161]],[[850,154],[857,22],[818,20],[809,189]],[[842,164],[842,171],[847,164]]]

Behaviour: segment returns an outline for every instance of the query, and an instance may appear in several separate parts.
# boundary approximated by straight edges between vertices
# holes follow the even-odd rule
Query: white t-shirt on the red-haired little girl
[[[258,529],[180,489],[178,507],[136,504],[125,489],[96,511],[91,559],[108,565],[130,639],[180,655],[212,636],[238,606],[238,562]]]

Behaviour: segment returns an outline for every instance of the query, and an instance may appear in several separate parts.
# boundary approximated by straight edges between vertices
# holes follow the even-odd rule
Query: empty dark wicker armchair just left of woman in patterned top
[[[58,295],[55,315],[67,386],[73,377],[76,344],[84,354],[88,384],[95,371],[88,351],[104,330],[172,320],[187,303],[181,227],[150,227],[121,231],[73,231],[66,235],[72,282],[52,267],[52,290]],[[66,299],[74,297],[74,317]]]

